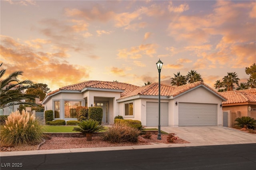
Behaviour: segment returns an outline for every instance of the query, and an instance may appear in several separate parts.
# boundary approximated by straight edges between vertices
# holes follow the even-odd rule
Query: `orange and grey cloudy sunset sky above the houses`
[[[0,1],[6,75],[51,91],[88,80],[144,85],[196,70],[213,88],[256,62],[252,1]]]

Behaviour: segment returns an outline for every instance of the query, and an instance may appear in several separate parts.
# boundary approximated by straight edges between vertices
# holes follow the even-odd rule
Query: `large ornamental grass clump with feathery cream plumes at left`
[[[35,115],[27,111],[12,112],[1,126],[1,143],[4,146],[20,146],[26,144],[37,144],[42,140],[42,125]]]

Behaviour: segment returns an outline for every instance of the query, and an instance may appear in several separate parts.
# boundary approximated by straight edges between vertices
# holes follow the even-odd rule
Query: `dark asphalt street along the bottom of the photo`
[[[1,157],[1,170],[241,170],[255,168],[255,143]]]

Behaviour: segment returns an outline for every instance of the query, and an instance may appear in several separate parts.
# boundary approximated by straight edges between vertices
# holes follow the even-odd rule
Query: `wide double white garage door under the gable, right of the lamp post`
[[[217,105],[178,103],[179,126],[217,126]]]

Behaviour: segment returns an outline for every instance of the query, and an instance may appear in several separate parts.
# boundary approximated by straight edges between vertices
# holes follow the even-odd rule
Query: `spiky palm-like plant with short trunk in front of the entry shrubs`
[[[78,127],[74,127],[73,130],[86,134],[87,141],[92,140],[92,134],[104,129],[103,126],[99,125],[98,121],[92,119],[81,121],[76,125],[78,125]]]

